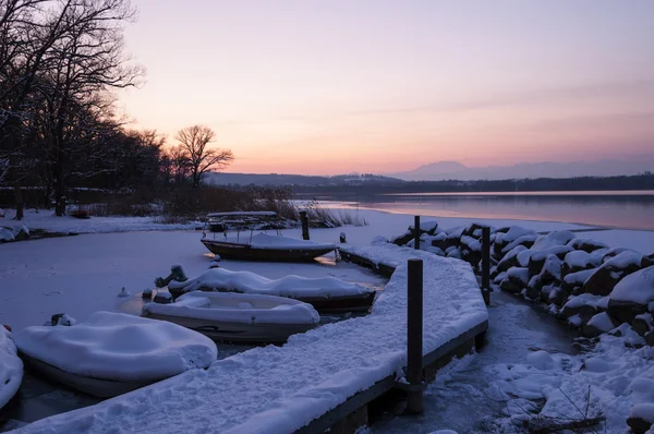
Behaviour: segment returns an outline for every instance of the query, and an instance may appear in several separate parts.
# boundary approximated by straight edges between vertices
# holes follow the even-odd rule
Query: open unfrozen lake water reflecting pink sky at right
[[[654,191],[405,193],[316,196],[351,208],[433,217],[567,221],[654,230]]]

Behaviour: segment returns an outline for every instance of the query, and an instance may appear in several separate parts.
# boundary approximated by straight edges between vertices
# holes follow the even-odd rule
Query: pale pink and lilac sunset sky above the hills
[[[654,155],[652,0],[132,0],[133,126],[227,171],[393,173]]]

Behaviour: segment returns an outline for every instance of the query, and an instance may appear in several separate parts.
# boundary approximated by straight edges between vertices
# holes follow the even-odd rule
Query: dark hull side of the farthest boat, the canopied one
[[[228,241],[201,240],[209,252],[227,260],[266,262],[310,262],[335,250],[327,246],[298,249],[257,249],[250,244]]]

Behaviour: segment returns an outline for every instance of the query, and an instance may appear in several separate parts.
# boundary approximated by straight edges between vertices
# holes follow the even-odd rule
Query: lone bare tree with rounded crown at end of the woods
[[[208,126],[193,125],[180,130],[175,140],[184,148],[191,165],[191,180],[193,186],[199,186],[203,174],[209,169],[222,169],[231,164],[234,156],[229,149],[207,147],[214,142],[216,133]]]

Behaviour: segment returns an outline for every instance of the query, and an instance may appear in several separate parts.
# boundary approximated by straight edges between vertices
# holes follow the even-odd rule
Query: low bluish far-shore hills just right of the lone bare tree
[[[213,185],[370,185],[400,183],[397,178],[377,174],[338,174],[334,177],[312,177],[284,173],[216,173],[205,174],[204,181]]]

